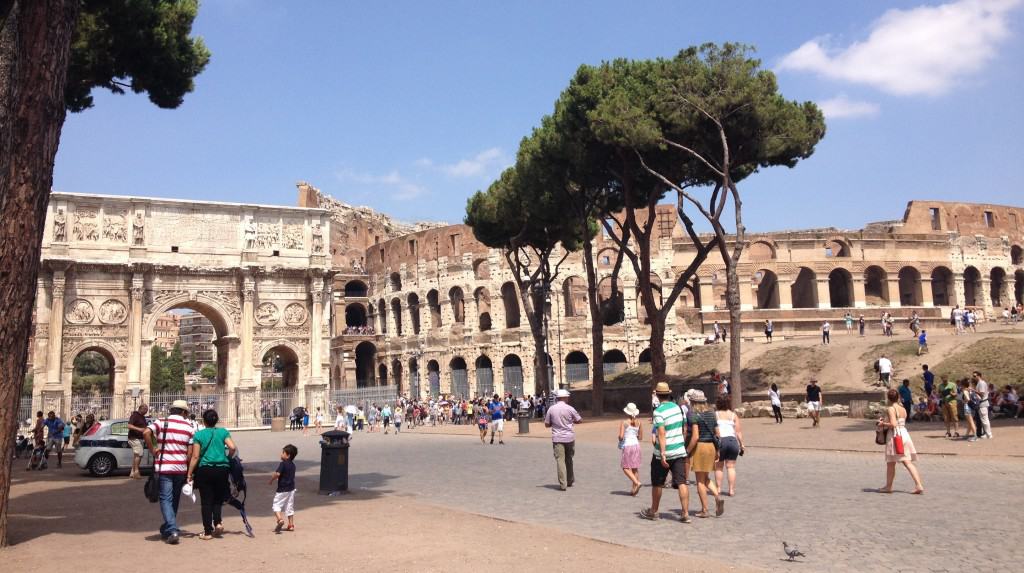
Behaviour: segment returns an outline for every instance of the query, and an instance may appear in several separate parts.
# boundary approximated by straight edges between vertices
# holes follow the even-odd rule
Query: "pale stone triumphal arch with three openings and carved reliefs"
[[[254,415],[263,357],[298,368],[308,403],[328,391],[330,220],[321,209],[54,192],[36,295],[33,390],[42,409],[70,413],[74,361],[111,368],[113,415],[151,394],[157,319],[174,309],[213,324],[217,391]]]

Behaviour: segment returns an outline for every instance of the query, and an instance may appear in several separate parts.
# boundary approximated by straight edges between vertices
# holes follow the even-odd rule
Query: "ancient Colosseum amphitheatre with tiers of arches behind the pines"
[[[307,184],[299,185],[299,205],[333,213],[334,388],[394,386],[412,396],[535,393],[532,339],[500,252],[476,241],[466,225],[389,234],[393,226],[353,221],[351,208]],[[693,251],[674,208],[659,206],[656,213],[651,282],[659,295]],[[896,319],[916,312],[934,323],[954,305],[993,316],[1022,301],[1022,217],[1021,208],[911,201],[902,219],[861,229],[752,233],[738,266],[744,336],[759,333],[766,318],[777,335],[797,336],[847,312],[872,324],[882,312]],[[614,244],[598,236],[594,252],[608,298]],[[709,259],[683,292],[668,321],[668,355],[701,344],[715,321],[728,320],[723,271],[720,259]],[[554,383],[590,380],[585,276],[582,256],[570,254],[551,290]],[[620,284],[626,304],[604,329],[606,374],[649,360],[650,327],[628,264]]]

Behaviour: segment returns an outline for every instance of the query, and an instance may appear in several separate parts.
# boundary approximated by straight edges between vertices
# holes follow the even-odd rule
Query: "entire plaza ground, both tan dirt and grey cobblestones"
[[[855,433],[845,422],[826,421],[825,429],[813,434],[833,434],[837,442],[850,441],[853,434],[870,443],[868,433]],[[810,432],[801,426],[803,421],[793,421],[788,431]],[[143,499],[140,482],[92,479],[71,466],[22,471],[12,492],[16,545],[10,555],[12,563],[28,565],[66,547],[92,564],[85,570],[103,569],[104,560],[131,563],[124,560],[133,552],[143,562],[174,553],[227,555],[225,571],[273,570],[288,556],[325,570],[352,560],[366,571],[476,570],[494,552],[508,556],[510,566],[518,559],[513,556],[521,555],[543,571],[652,565],[658,557],[651,549],[678,554],[679,570],[687,571],[963,571],[1009,569],[1022,558],[1019,548],[1004,542],[1014,538],[1020,522],[1013,509],[1024,501],[1019,455],[923,455],[919,467],[927,494],[919,497],[906,493],[911,484],[902,470],[896,481],[902,491],[871,491],[884,479],[878,452],[754,445],[740,458],[737,495],[726,502],[725,516],[682,525],[675,521],[679,510],[670,495],[659,523],[637,517],[649,489],[636,498],[627,495],[612,422],[580,429],[578,482],[566,492],[557,489],[551,445],[535,424],[534,437],[509,437],[504,446],[481,445],[463,434],[466,428],[359,434],[351,449],[352,491],[336,497],[315,494],[314,436],[239,432],[256,539],[186,536],[178,547],[157,542],[159,511]],[[774,430],[751,421],[748,440],[770,442]],[[936,432],[914,436],[923,444],[945,442],[930,437]],[[1020,428],[1004,433],[1017,441]],[[266,479],[288,442],[299,447],[298,531],[273,535]],[[691,491],[690,509],[698,508]],[[225,516],[229,531],[241,530],[233,510],[225,509]],[[198,504],[184,501],[187,532],[201,529],[199,518]],[[780,561],[783,540],[807,554],[804,564]],[[901,548],[893,550],[894,544]]]

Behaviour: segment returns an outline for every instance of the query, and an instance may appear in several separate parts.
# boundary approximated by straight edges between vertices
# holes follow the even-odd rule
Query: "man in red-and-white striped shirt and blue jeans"
[[[160,484],[160,513],[164,516],[160,536],[165,542],[176,545],[178,501],[194,453],[193,436],[196,430],[185,417],[188,414],[187,402],[175,400],[169,411],[170,415],[166,418],[150,424],[142,437],[153,452],[154,473]]]

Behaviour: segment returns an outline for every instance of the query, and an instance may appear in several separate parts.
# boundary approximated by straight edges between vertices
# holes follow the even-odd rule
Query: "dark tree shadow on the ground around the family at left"
[[[394,493],[387,484],[397,476],[379,473],[350,475],[349,495],[317,495],[318,464],[301,461],[302,471],[296,476],[298,506],[315,508],[344,503],[349,499],[374,499]],[[256,528],[269,531],[273,522],[270,502],[275,486],[267,484],[269,475],[276,468],[274,462],[254,462],[246,466],[248,495],[246,510]],[[160,504],[151,503],[142,494],[144,480],[126,478],[91,478],[74,464],[63,470],[25,472],[14,474],[8,505],[8,539],[14,545],[51,533],[88,535],[99,531],[136,532],[139,539],[159,539],[158,529],[163,522]],[[227,533],[243,530],[239,512],[230,506],[223,509]],[[202,531],[199,495],[196,502],[182,497],[178,510],[178,524],[183,535]],[[267,522],[262,528],[262,523]]]

